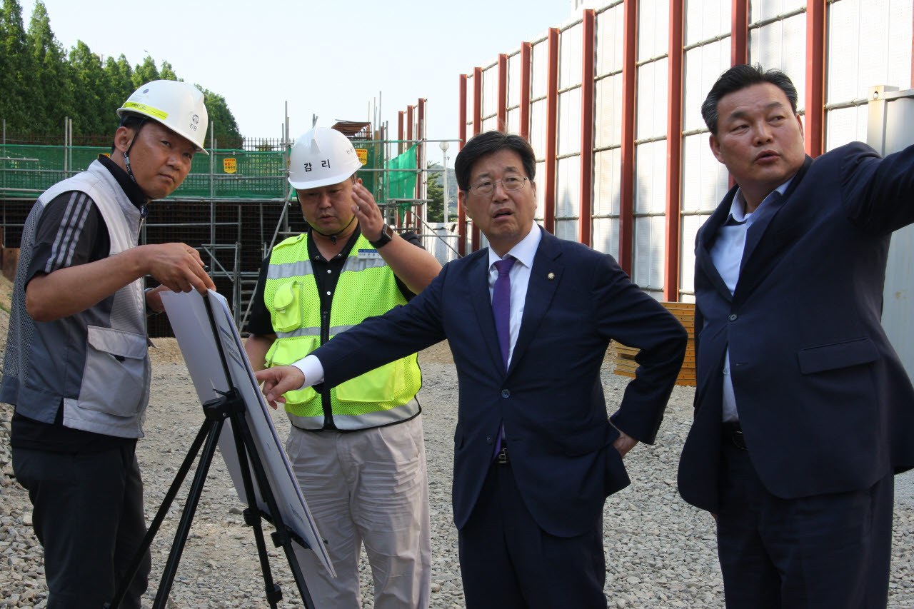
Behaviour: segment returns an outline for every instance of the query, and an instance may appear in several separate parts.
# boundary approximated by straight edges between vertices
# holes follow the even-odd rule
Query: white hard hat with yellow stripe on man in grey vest
[[[189,82],[147,82],[118,108],[118,116],[125,113],[162,123],[197,146],[197,152],[209,154],[203,148],[209,124],[207,107],[203,104],[203,93]]]

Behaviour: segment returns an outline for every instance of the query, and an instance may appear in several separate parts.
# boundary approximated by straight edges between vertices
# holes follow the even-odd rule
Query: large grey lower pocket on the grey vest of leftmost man
[[[110,327],[89,326],[80,408],[131,417],[146,392],[146,337]]]

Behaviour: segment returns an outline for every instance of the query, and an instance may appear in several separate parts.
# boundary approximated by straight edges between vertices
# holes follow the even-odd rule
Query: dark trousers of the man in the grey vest
[[[100,609],[110,602],[143,542],[143,481],[134,444],[101,453],[13,449],[45,550],[48,609]],[[120,607],[139,609],[149,552]]]

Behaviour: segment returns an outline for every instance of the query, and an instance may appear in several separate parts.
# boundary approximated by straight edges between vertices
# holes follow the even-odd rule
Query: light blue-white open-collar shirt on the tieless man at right
[[[781,198],[791,180],[787,180],[780,187],[775,188],[768,197],[762,200],[755,209],[758,212],[772,200]],[[714,262],[721,279],[727,284],[730,295],[736,290],[739,282],[739,265],[742,262],[743,250],[746,249],[746,233],[752,226],[758,213],[745,213],[746,199],[741,190],[737,190],[736,197],[730,204],[730,215],[727,221],[717,229],[714,245],[711,246],[711,261]],[[727,356],[724,358],[724,421],[739,421],[736,394],[733,391],[733,378],[730,376],[730,347],[727,347]]]

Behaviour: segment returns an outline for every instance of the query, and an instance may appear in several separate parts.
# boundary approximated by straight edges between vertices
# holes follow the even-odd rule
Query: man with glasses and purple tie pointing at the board
[[[683,327],[607,254],[534,223],[530,144],[473,137],[460,204],[489,247],[447,264],[409,305],[337,335],[296,367],[258,373],[268,401],[331,386],[448,339],[460,383],[453,513],[467,607],[605,607],[602,508],[653,443],[685,353]],[[641,367],[607,417],[609,341]]]

